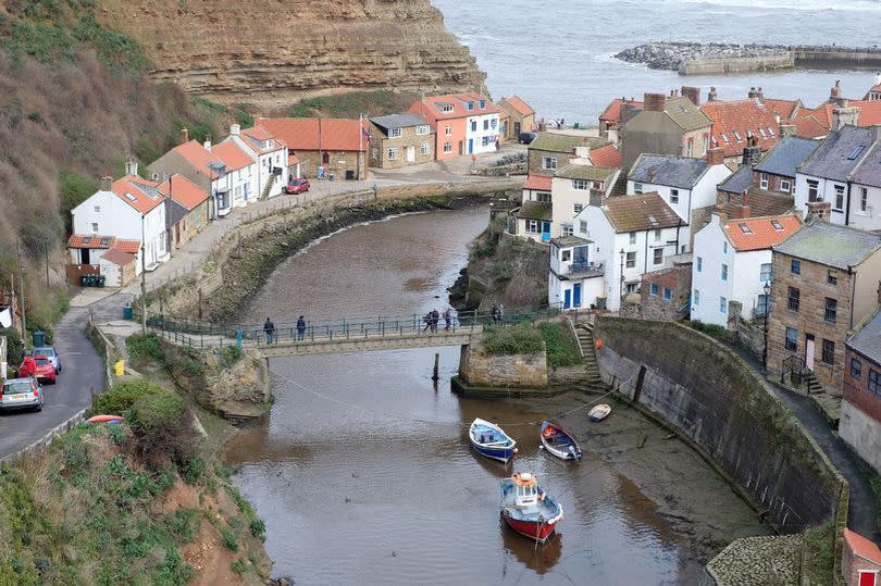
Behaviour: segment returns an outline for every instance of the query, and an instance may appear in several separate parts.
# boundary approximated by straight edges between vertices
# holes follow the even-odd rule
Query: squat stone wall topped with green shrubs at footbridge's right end
[[[473,344],[462,346],[459,376],[474,387],[545,388],[547,359],[545,352],[493,356]]]

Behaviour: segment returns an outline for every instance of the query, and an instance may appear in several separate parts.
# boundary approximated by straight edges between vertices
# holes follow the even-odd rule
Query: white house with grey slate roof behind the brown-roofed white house
[[[691,225],[695,223],[696,210],[716,205],[716,186],[729,175],[731,170],[724,165],[719,149],[710,149],[706,160],[641,154],[628,175],[628,194],[659,194],[685,224]],[[683,245],[687,244],[686,239]],[[687,248],[680,252],[687,252]]]

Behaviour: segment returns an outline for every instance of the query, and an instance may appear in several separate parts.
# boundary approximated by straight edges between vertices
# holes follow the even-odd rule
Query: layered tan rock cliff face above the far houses
[[[485,75],[430,0],[101,0],[159,80],[219,101],[278,105],[331,91],[461,90]]]

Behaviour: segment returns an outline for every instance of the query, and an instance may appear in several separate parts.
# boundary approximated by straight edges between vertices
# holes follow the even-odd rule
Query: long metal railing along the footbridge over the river
[[[472,333],[486,325],[513,325],[523,322],[546,320],[559,313],[559,309],[528,308],[512,313],[504,312],[500,316],[486,311],[458,312],[447,324],[443,314],[436,324],[431,324],[427,315],[418,313],[407,315],[388,315],[371,317],[343,317],[339,320],[319,320],[306,322],[305,327],[296,323],[274,324],[274,329],[266,332],[262,324],[245,326],[216,326],[204,322],[179,321],[170,316],[152,314],[147,323],[150,329],[163,338],[191,346],[194,348],[214,348],[224,346],[265,347],[268,345],[290,345],[323,340],[356,340],[384,338],[404,335],[449,335]]]

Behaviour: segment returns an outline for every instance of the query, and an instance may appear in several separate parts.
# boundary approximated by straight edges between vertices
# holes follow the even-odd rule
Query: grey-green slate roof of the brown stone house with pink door
[[[847,270],[881,248],[881,235],[815,221],[773,247],[774,251]]]

